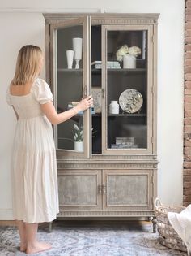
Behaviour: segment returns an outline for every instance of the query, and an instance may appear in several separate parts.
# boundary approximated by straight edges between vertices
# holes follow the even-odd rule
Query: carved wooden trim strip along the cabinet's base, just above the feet
[[[144,217],[144,216],[154,216],[154,210],[60,210],[57,217],[68,216],[68,217],[87,217],[87,216],[100,216],[100,217]]]

